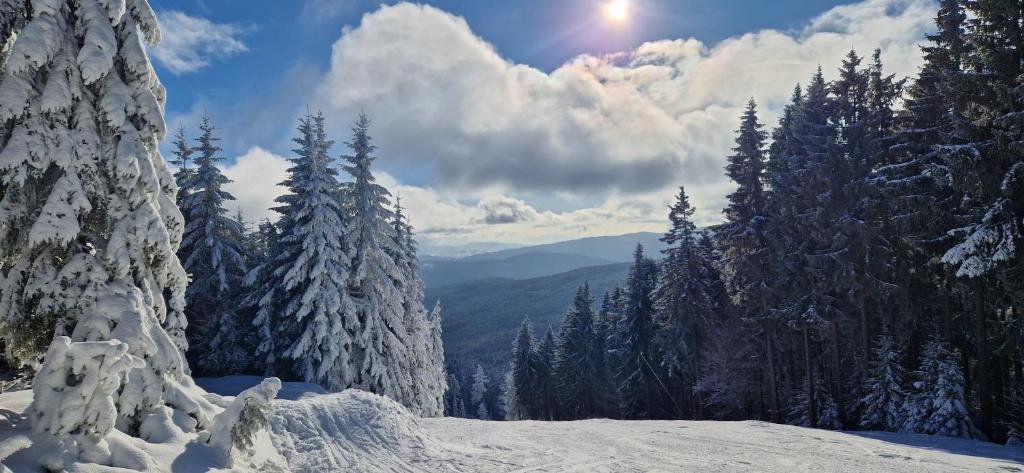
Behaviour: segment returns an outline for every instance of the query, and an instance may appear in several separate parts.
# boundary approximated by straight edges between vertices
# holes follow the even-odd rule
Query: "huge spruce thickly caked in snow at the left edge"
[[[158,152],[165,90],[143,45],[159,42],[156,16],[144,0],[36,1],[31,15],[0,74],[8,355],[36,359],[54,329],[73,342],[118,340],[144,365],[114,398],[116,428],[137,435],[143,420],[170,415],[165,405],[205,428],[212,406],[182,359],[183,223]],[[41,372],[56,369],[48,362]]]

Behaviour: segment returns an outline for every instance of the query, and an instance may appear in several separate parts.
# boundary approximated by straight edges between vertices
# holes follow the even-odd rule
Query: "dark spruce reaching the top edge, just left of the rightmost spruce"
[[[938,307],[933,309],[920,300],[914,301],[914,306],[942,313],[942,333],[947,341],[953,336],[952,288],[944,274],[948,271],[934,266],[948,247],[947,231],[959,220],[958,212],[951,210],[958,209],[964,197],[953,187],[958,171],[951,165],[959,161],[955,135],[961,128],[956,123],[962,119],[951,104],[957,94],[964,93],[953,86],[953,81],[962,75],[966,18],[962,1],[939,2],[935,18],[938,31],[929,35],[929,43],[922,47],[925,63],[906,88],[903,106],[895,117],[898,130],[890,148],[891,161],[874,173],[876,185],[888,198],[886,216],[890,225],[895,227],[898,240],[912,250],[910,256],[915,257],[909,264],[930,264],[937,269],[915,271],[910,281],[939,280],[940,285],[921,285],[929,289],[940,286],[940,291],[931,290],[943,298],[933,303]],[[920,298],[918,294],[911,297]]]

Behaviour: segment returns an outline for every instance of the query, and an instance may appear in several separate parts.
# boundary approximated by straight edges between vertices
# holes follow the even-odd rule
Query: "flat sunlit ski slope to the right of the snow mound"
[[[992,443],[763,422],[432,419],[420,425],[464,462],[438,463],[436,471],[1024,472],[1024,450]]]

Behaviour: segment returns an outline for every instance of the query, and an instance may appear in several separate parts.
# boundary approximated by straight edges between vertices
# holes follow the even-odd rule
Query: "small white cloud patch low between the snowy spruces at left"
[[[238,200],[227,206],[237,205],[250,221],[276,221],[278,214],[270,207],[274,205],[273,200],[287,190],[278,184],[288,176],[288,168],[285,158],[259,146],[250,148],[234,164],[222,169],[224,176],[233,181],[224,185],[224,190]]]

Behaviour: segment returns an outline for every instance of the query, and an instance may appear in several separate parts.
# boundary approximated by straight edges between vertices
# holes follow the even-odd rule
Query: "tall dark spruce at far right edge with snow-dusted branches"
[[[979,428],[997,437],[996,408],[1002,403],[1001,364],[991,343],[989,318],[1019,306],[1024,258],[1024,33],[1020,5],[1007,0],[966,2],[963,72],[951,89],[958,138],[947,146],[953,156],[953,186],[961,193],[953,209],[963,220],[942,261],[955,270],[973,296],[971,385],[978,399]],[[1005,290],[994,289],[996,284]],[[1009,294],[1008,294],[1009,293]],[[1008,297],[1001,297],[1008,296]],[[1002,299],[1002,300],[1000,300]],[[1004,302],[1006,300],[1006,302]]]

